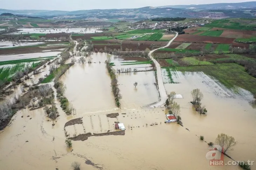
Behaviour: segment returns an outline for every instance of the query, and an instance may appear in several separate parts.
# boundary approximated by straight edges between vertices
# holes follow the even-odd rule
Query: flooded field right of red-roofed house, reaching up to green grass
[[[214,142],[220,133],[231,135],[237,145],[228,155],[235,160],[254,160],[256,114],[249,103],[253,100],[250,92],[241,89],[235,94],[202,72],[172,72],[172,75],[173,81],[178,83],[166,83],[165,87],[167,93],[182,94],[183,98],[175,101],[181,105],[182,122],[190,133],[203,135],[207,142]],[[190,92],[195,88],[204,95],[202,105],[208,110],[206,115],[200,115],[192,108]]]

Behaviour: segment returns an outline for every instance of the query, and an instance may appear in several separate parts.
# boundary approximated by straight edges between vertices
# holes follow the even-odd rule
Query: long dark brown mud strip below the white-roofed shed
[[[80,134],[76,137],[73,138],[68,138],[70,140],[81,140],[81,141],[85,141],[87,140],[90,136],[108,136],[108,135],[125,135],[125,131],[115,131],[115,132],[107,132],[107,133],[85,133],[85,134]]]

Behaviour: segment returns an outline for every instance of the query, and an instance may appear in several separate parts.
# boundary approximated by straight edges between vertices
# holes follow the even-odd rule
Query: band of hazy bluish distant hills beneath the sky
[[[135,9],[91,9],[76,11],[61,10],[8,10],[0,9],[0,14],[42,17],[45,19],[119,19],[143,20],[160,17],[227,17],[252,18],[256,15],[256,2],[214,3],[204,5],[174,5],[162,7],[143,7]],[[129,15],[127,15],[129,14]]]

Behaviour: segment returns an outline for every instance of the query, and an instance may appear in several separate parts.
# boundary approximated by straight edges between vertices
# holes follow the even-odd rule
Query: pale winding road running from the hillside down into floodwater
[[[155,50],[152,50],[148,54],[148,56],[150,57],[151,60],[153,60],[155,66],[156,66],[156,75],[157,75],[158,89],[159,89],[159,95],[160,95],[160,101],[155,103],[155,104],[153,104],[153,105],[150,105],[151,108],[163,106],[165,104],[165,102],[166,102],[166,99],[167,99],[167,93],[166,93],[165,87],[163,85],[163,77],[162,77],[161,66],[153,58],[152,53],[155,52],[156,50],[168,47],[174,41],[174,39],[178,36],[178,32],[175,32],[175,33],[176,33],[175,37],[173,37],[173,39],[171,39],[166,46],[158,48],[158,49],[155,49]]]

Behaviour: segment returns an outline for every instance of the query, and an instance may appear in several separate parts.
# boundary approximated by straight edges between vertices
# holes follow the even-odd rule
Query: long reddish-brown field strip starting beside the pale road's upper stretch
[[[235,38],[182,34],[182,35],[178,35],[178,37],[175,39],[175,42],[232,44],[234,40]]]

